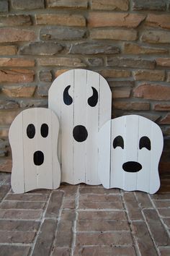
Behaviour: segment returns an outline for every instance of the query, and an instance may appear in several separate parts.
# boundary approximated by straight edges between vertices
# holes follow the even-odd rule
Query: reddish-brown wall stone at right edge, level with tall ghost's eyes
[[[134,89],[134,96],[155,101],[169,101],[170,87],[167,85],[143,84]]]

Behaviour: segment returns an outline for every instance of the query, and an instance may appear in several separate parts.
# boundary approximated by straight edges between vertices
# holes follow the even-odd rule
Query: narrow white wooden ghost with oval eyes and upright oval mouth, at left
[[[59,187],[58,132],[58,118],[48,108],[30,108],[14,119],[9,129],[14,192]]]

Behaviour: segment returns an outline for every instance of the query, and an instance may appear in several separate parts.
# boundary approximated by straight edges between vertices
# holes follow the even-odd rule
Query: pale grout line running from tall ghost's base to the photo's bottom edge
[[[75,205],[76,205],[76,218],[73,221],[73,227],[72,227],[72,231],[73,231],[73,239],[72,239],[72,243],[71,243],[71,253],[70,256],[73,256],[73,252],[76,246],[76,223],[77,223],[77,219],[78,219],[78,208],[79,208],[79,192],[80,189],[80,185],[78,186],[77,192],[76,192],[76,198],[75,198]]]

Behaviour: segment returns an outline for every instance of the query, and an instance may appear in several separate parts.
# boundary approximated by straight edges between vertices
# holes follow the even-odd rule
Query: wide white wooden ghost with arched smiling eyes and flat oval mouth
[[[160,127],[142,116],[121,116],[99,131],[99,177],[107,189],[155,193],[163,150]]]

